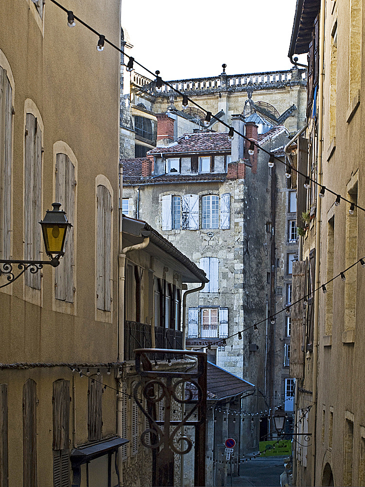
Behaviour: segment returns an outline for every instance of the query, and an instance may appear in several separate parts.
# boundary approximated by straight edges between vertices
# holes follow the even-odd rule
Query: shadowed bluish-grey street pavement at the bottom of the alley
[[[255,458],[243,462],[240,476],[227,477],[227,487],[278,487],[284,471],[284,457]]]

